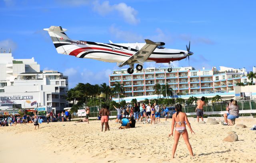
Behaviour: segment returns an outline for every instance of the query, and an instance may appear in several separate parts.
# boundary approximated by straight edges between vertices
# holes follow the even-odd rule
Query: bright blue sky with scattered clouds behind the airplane
[[[0,47],[12,48],[16,59],[34,57],[42,70],[78,82],[108,83],[116,63],[61,55],[43,28],[62,26],[71,39],[108,43],[165,42],[166,48],[186,49],[190,65],[245,67],[255,63],[256,1],[238,0],[0,0]],[[175,62],[188,66],[188,61]],[[164,64],[148,63],[147,66]]]

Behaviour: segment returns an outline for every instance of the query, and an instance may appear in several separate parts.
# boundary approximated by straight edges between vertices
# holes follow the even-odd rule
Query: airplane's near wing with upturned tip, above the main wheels
[[[153,53],[158,45],[164,45],[162,42],[153,42],[150,39],[145,39],[146,45],[144,45],[139,51],[137,51],[134,55],[132,55],[129,59],[124,61],[119,67],[124,65],[130,65],[136,62],[144,63]]]

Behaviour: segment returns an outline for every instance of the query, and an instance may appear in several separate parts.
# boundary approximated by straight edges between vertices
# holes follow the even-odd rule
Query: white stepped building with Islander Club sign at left
[[[64,99],[68,77],[57,71],[40,71],[32,59],[14,59],[0,53],[0,109],[25,108],[54,110],[68,107]]]

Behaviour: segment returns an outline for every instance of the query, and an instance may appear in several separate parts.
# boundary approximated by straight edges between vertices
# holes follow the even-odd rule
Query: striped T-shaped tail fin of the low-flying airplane
[[[44,30],[48,31],[57,52],[69,55],[67,51],[70,48],[64,46],[72,45],[72,40],[66,35],[66,33],[64,33],[67,29],[62,28],[61,26],[50,26],[50,28],[45,28]]]

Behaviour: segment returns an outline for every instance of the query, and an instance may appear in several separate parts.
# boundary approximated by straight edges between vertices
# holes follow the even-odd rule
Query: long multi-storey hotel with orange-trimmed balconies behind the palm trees
[[[256,72],[256,67],[253,67],[253,71]],[[188,98],[191,95],[207,96],[211,94],[214,96],[232,92],[234,94],[236,83],[248,82],[247,73],[244,68],[234,69],[222,66],[220,70],[216,67],[212,67],[212,69],[203,67],[201,70],[196,70],[193,67],[174,67],[171,73],[167,71],[167,68],[146,68],[142,71],[135,69],[132,75],[128,74],[126,69],[121,69],[113,71],[109,76],[109,83],[110,87],[113,87],[115,82],[124,84],[124,96],[126,97],[124,100],[128,101],[132,98],[157,98],[154,93],[154,85],[166,83],[169,88],[173,89],[173,94],[176,97]]]

